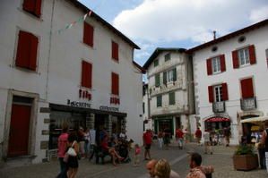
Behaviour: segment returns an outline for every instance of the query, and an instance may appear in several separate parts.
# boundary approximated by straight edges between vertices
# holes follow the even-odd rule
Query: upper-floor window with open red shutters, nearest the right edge
[[[255,46],[251,45],[232,52],[233,67],[239,68],[248,64],[255,64]]]

